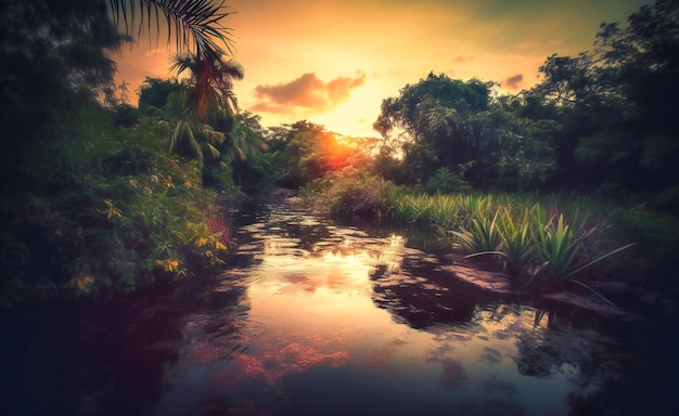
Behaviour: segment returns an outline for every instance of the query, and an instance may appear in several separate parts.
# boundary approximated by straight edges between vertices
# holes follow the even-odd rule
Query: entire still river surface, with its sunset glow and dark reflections
[[[679,408],[666,359],[677,343],[667,328],[657,337],[658,322],[481,289],[411,247],[403,230],[341,225],[281,204],[245,212],[233,212],[229,269],[190,291],[4,316],[2,414]],[[630,328],[659,343],[646,338],[649,348]]]

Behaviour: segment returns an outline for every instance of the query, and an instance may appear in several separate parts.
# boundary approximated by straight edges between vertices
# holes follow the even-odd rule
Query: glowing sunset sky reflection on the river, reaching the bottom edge
[[[274,206],[236,238],[216,290],[244,287],[247,313],[185,317],[151,414],[565,415],[613,343],[456,281],[403,233]]]

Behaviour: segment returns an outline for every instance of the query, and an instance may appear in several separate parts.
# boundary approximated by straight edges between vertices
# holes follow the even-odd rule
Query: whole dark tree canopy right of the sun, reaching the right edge
[[[551,55],[515,96],[430,74],[388,98],[373,127],[398,148],[401,180],[440,168],[484,188],[657,192],[679,181],[679,3],[602,24],[592,51]]]

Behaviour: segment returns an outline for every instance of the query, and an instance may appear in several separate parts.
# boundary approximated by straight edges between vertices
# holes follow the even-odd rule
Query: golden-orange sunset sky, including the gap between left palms
[[[265,127],[298,120],[376,136],[384,99],[427,74],[478,78],[516,93],[554,53],[592,49],[602,22],[651,0],[227,0],[241,109]],[[139,41],[114,55],[128,95],[146,76],[168,78],[172,51]]]

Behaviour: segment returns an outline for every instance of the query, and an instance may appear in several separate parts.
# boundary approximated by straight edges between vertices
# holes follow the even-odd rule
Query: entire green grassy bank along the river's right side
[[[418,223],[458,256],[496,262],[534,286],[622,281],[677,287],[675,218],[577,194],[425,194],[359,173],[305,190],[318,209]]]

